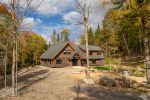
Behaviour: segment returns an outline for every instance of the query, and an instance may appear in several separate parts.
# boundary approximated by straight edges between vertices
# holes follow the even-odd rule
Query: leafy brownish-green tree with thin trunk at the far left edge
[[[6,9],[6,5],[0,5],[0,45],[2,45],[3,48],[3,54],[4,54],[4,59],[0,59],[3,61],[3,65],[1,67],[4,67],[4,87],[7,86],[7,72],[10,72],[10,60],[11,60],[11,47],[12,47],[12,34],[10,33],[11,30],[13,30],[14,23],[11,18],[10,13],[8,12],[8,9]],[[0,47],[0,49],[2,49]],[[3,71],[2,71],[3,72]]]

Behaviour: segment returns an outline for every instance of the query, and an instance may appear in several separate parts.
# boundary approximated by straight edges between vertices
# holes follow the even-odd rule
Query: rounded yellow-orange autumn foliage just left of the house
[[[18,37],[19,69],[39,64],[39,57],[46,50],[45,39],[32,31],[24,31]]]

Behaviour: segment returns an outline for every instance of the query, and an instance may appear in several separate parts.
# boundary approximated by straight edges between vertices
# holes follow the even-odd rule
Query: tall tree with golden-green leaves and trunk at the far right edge
[[[133,26],[138,26],[138,30],[140,30],[139,33],[142,33],[143,36],[143,42],[144,42],[144,55],[145,55],[145,68],[146,68],[146,77],[147,77],[147,83],[150,83],[150,74],[149,74],[149,66],[150,66],[150,56],[149,56],[149,43],[148,43],[148,23],[149,17],[150,17],[150,9],[149,9],[149,0],[111,0],[111,2],[115,6],[114,9],[124,9],[125,13],[121,13],[121,16],[125,16],[126,19],[129,21],[136,21],[137,24],[131,23]],[[120,19],[122,19],[120,17]],[[132,19],[132,20],[131,20]],[[134,23],[136,23],[134,22]],[[130,24],[126,24],[130,25]],[[126,26],[125,25],[125,26]],[[133,28],[132,26],[132,28]],[[123,28],[121,28],[123,29]],[[133,30],[137,29],[137,27],[134,27]],[[135,34],[137,35],[137,34]],[[140,36],[140,35],[139,35]],[[141,36],[140,36],[141,38]],[[139,39],[140,40],[140,39]],[[130,42],[132,43],[132,42]]]

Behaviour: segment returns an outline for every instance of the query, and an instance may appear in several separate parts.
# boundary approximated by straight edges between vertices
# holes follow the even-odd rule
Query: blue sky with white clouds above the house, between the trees
[[[0,0],[8,3],[11,0]],[[33,0],[31,6],[36,6],[41,0]],[[83,0],[79,0],[83,1]],[[99,0],[87,0],[92,2],[94,10],[90,16],[90,26],[96,29],[97,25],[102,25],[102,20],[108,8],[100,9]],[[55,29],[57,33],[64,28],[70,30],[70,38],[79,41],[79,37],[83,34],[83,25],[77,25],[81,22],[82,16],[77,12],[74,0],[44,0],[41,6],[34,12],[27,14],[22,22],[22,28],[32,30],[41,34],[46,40],[50,40],[50,36]]]

